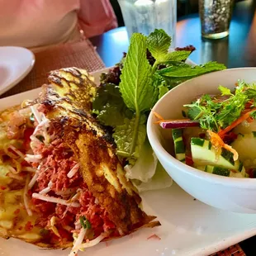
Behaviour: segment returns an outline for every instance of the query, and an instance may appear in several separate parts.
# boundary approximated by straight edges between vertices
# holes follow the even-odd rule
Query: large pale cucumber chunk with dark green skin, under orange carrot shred
[[[217,157],[216,149],[211,145],[211,141],[200,138],[191,139],[192,160],[197,165],[213,165],[240,171],[243,164],[239,160],[234,161],[234,154],[222,148]]]

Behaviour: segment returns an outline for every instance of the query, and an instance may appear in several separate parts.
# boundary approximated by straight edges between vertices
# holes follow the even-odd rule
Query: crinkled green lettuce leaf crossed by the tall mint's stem
[[[123,125],[116,126],[113,133],[117,146],[116,154],[126,158],[139,158],[146,137],[146,127],[143,123],[145,116],[142,119],[137,122],[136,117],[131,120],[126,118]]]

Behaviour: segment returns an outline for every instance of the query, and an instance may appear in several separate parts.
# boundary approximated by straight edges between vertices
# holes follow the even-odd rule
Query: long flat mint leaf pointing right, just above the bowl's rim
[[[204,65],[192,67],[189,64],[176,64],[165,69],[160,69],[158,73],[169,78],[197,77],[204,73],[226,69],[224,64],[208,62]]]

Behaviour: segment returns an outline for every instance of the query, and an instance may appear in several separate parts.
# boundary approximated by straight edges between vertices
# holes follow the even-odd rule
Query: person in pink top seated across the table
[[[0,45],[34,51],[117,26],[108,0],[0,0]]]

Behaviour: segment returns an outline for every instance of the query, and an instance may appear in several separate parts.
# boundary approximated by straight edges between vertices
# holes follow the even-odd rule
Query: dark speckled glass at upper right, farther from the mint
[[[220,39],[229,36],[234,0],[199,0],[201,36]]]

